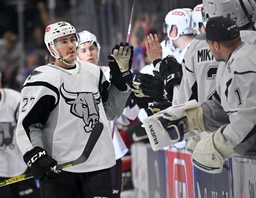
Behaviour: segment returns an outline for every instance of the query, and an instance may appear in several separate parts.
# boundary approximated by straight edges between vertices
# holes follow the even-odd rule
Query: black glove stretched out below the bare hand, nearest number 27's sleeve
[[[164,95],[164,80],[160,76],[152,76],[143,74],[139,88],[146,96],[153,98],[163,98]]]

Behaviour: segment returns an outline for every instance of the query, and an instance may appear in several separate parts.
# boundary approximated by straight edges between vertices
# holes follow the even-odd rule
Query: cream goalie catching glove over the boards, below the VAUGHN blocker
[[[226,143],[221,130],[213,132],[199,141],[192,153],[194,166],[209,173],[222,172],[224,161],[234,153]]]

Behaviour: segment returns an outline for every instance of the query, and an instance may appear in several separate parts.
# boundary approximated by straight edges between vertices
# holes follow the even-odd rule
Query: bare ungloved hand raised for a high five
[[[154,37],[152,34],[149,34],[149,36],[147,36],[147,41],[145,42],[145,45],[147,48],[147,55],[151,62],[156,59],[162,59],[162,46],[160,45],[156,34],[154,34]]]

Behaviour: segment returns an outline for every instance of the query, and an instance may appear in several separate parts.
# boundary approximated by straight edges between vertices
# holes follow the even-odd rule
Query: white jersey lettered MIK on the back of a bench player
[[[244,42],[256,43],[254,31],[240,31],[240,36]],[[216,90],[215,80],[219,64],[205,40],[194,40],[183,59],[183,77],[173,105],[193,99],[197,100],[198,104],[211,100]]]

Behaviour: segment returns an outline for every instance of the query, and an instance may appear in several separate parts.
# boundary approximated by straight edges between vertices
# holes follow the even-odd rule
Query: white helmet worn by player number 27
[[[47,26],[45,28],[45,45],[47,47],[47,49],[50,51],[51,55],[55,58],[58,58],[60,61],[64,62],[65,64],[67,65],[70,65],[68,63],[66,63],[64,61],[64,58],[66,57],[61,57],[56,49],[56,43],[55,43],[55,40],[57,38],[60,38],[62,36],[67,36],[67,35],[70,35],[70,34],[74,34],[75,37],[76,37],[76,47],[79,46],[79,43],[80,43],[80,38],[79,38],[79,35],[77,34],[76,32],[76,29],[71,26],[70,23],[67,23],[65,21],[60,21],[60,22],[57,22],[57,23],[53,23],[49,26]],[[56,53],[53,53],[49,46],[51,45],[51,48],[56,52]]]

